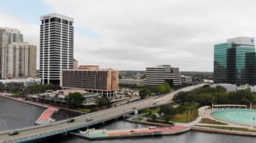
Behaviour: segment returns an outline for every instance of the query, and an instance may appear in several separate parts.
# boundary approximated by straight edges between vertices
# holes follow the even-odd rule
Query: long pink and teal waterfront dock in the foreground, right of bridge
[[[70,132],[75,136],[85,138],[88,140],[107,140],[113,138],[133,138],[141,136],[164,136],[171,134],[179,134],[182,132],[187,132],[191,130],[191,127],[188,126],[169,126],[162,128],[141,128],[133,130],[86,130],[86,132],[79,131]]]

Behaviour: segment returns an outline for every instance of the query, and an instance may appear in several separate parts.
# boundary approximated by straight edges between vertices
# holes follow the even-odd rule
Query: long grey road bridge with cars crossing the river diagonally
[[[156,107],[159,105],[170,103],[170,101],[172,101],[172,97],[176,93],[180,91],[191,91],[193,89],[203,87],[203,85],[205,85],[205,83],[200,85],[193,85],[191,87],[185,87],[167,95],[150,97],[148,99],[143,99],[141,101],[129,103],[126,105],[121,105],[118,107],[81,115],[79,117],[74,117],[75,122],[72,123],[67,123],[67,120],[61,120],[59,122],[54,122],[51,124],[20,128],[17,129],[20,134],[15,136],[9,136],[9,132],[11,132],[12,130],[3,131],[0,132],[0,142],[27,142],[30,140],[45,138],[47,136],[67,133],[69,131],[78,130],[80,128],[88,128],[89,126],[93,126],[95,124],[104,123],[109,120],[115,120],[118,117],[133,113],[136,110],[139,111],[141,109],[147,109],[150,107]],[[86,122],[86,118],[90,117],[94,120]]]

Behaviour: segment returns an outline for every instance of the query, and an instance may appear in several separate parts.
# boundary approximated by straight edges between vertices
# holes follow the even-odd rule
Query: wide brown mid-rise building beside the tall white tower
[[[119,72],[100,69],[98,66],[79,66],[77,70],[62,70],[62,87],[84,89],[88,93],[99,93],[113,97],[119,89]]]

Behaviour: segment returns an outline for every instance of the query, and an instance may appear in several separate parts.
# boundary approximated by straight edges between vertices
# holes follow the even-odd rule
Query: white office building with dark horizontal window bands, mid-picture
[[[181,74],[179,68],[170,65],[158,65],[156,67],[146,68],[146,81],[145,85],[155,86],[168,83],[170,87],[173,85],[181,85]]]

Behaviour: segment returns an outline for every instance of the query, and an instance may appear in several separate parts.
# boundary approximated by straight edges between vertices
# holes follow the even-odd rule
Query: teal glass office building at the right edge
[[[254,38],[232,38],[214,45],[214,83],[256,85]]]

